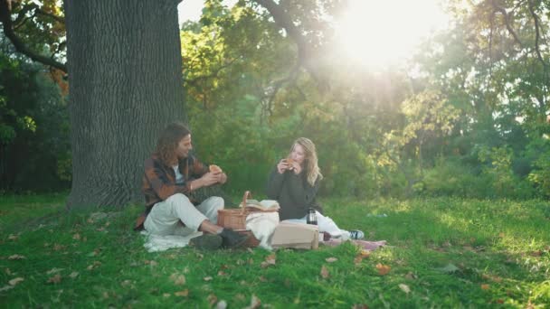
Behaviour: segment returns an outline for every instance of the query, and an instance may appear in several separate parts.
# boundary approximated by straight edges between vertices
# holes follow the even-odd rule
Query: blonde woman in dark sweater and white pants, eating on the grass
[[[268,180],[267,195],[279,201],[280,220],[306,223],[308,209],[314,208],[319,231],[336,239],[363,239],[361,230],[339,229],[332,219],[321,213],[316,196],[322,179],[315,144],[306,137],[299,137],[292,144],[288,157],[280,160]]]

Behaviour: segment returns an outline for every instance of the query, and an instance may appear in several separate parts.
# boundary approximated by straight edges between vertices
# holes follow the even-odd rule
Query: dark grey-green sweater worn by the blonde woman
[[[312,186],[306,179],[307,171],[298,175],[292,171],[279,173],[277,166],[270,173],[267,195],[271,200],[279,201],[280,220],[301,219],[308,214],[308,208],[313,207],[321,212],[315,197],[318,192],[319,181]]]

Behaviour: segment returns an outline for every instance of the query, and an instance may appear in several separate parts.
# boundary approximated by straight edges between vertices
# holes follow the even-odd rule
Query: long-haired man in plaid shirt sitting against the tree
[[[178,123],[164,129],[156,144],[156,152],[145,161],[142,191],[146,200],[145,220],[137,221],[137,229],[145,228],[156,235],[188,235],[202,231],[190,240],[196,248],[238,248],[248,236],[215,224],[223,199],[213,196],[201,203],[189,199],[197,189],[225,183],[223,172],[210,172],[194,155],[191,131]]]

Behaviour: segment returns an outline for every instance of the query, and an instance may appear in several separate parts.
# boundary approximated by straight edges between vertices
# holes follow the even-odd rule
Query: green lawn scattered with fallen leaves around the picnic
[[[64,199],[62,194],[1,197],[3,306],[550,304],[546,201],[323,201],[341,228],[363,229],[367,239],[388,241],[390,246],[365,257],[349,243],[274,253],[260,248],[148,253],[141,235],[131,230],[140,206],[67,213]],[[273,254],[275,264],[262,267]],[[328,262],[328,257],[337,260]],[[381,275],[377,265],[390,267],[389,272]],[[328,276],[321,274],[323,267]]]

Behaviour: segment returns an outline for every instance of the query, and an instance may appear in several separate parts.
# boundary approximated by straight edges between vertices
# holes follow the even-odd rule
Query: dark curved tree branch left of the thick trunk
[[[33,61],[62,70],[65,73],[67,72],[67,66],[65,64],[31,51],[24,42],[17,37],[14,33],[14,24],[12,23],[9,0],[0,0],[0,23],[4,25],[4,34],[14,44],[15,51],[24,54]]]

